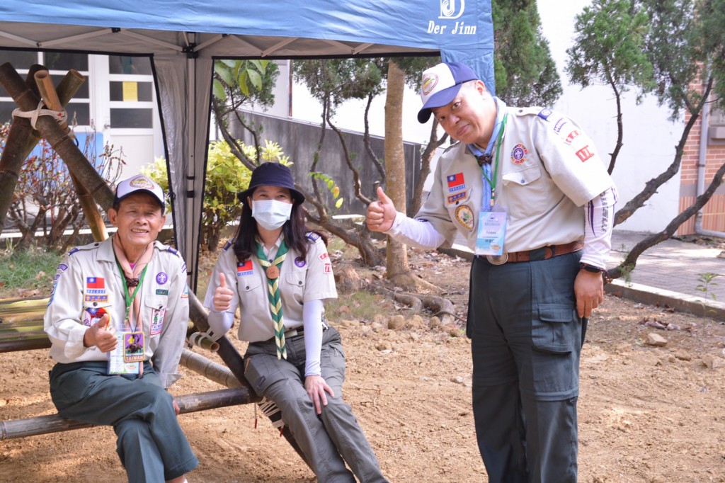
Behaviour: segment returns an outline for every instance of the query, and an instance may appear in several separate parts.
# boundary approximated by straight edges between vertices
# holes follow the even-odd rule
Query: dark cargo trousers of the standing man
[[[576,482],[580,257],[473,261],[473,416],[491,483]]]

